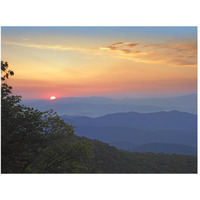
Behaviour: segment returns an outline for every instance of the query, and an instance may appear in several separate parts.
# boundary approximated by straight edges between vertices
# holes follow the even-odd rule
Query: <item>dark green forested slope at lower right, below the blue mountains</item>
[[[197,173],[195,156],[128,152],[98,140],[91,141],[94,146],[92,173]]]

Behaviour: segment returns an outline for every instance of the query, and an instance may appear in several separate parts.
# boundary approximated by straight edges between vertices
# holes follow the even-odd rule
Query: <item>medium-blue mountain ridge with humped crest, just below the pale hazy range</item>
[[[185,112],[115,113],[91,118],[85,116],[62,116],[70,124],[81,127],[129,127],[146,131],[197,130],[197,116]]]

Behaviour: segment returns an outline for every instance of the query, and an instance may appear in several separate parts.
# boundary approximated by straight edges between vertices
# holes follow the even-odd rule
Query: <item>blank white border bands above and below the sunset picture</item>
[[[198,26],[197,2],[4,0],[0,3],[0,25]],[[199,174],[0,175],[0,195],[4,200],[188,200],[198,199],[199,185]]]

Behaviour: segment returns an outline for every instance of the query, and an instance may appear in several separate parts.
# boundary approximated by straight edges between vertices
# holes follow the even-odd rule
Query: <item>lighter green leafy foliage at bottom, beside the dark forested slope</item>
[[[47,145],[40,148],[27,171],[34,173],[85,173],[93,158],[93,148],[88,141],[73,141],[74,137],[57,136],[47,139]]]

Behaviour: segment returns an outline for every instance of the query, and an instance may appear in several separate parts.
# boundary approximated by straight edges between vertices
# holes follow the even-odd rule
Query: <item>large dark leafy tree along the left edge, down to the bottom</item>
[[[41,112],[20,104],[7,84],[14,72],[1,61],[2,173],[87,172],[91,144],[75,140],[73,126],[53,110]]]

